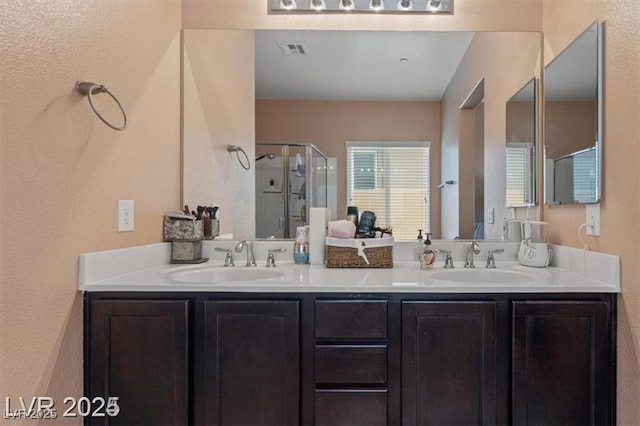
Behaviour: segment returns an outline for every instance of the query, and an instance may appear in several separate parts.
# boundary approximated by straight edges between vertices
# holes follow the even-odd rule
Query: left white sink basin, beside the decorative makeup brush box
[[[169,274],[169,278],[172,281],[195,284],[258,281],[281,278],[282,276],[282,272],[266,268],[224,268],[221,266],[181,269]]]

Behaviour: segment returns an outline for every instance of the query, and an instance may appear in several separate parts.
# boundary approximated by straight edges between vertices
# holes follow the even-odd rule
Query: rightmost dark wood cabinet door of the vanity
[[[514,424],[610,424],[608,317],[606,302],[514,303]]]

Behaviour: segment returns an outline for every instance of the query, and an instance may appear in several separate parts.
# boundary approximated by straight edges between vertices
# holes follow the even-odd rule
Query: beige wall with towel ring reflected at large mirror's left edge
[[[253,31],[186,30],[183,37],[183,203],[219,205],[221,234],[253,238]],[[227,145],[244,149],[249,170]]]

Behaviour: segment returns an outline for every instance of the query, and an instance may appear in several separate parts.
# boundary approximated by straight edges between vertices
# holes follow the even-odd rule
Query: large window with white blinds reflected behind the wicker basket
[[[347,142],[347,198],[396,239],[431,232],[429,142]]]

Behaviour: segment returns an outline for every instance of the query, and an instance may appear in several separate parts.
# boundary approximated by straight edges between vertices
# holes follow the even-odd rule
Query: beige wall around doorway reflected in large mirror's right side
[[[469,155],[471,148],[459,145],[459,141],[473,140],[472,136],[465,137],[465,128],[473,120],[465,118],[468,112],[460,107],[483,78],[484,211],[495,209],[494,224],[487,224],[485,217],[485,238],[501,238],[502,219],[509,217],[504,189],[506,102],[532,77],[539,76],[540,64],[539,33],[477,33],[471,41],[442,99],[442,179],[460,182],[442,194],[443,238],[469,234],[468,230],[460,229],[460,223],[464,219],[469,226],[468,210],[473,205],[474,193],[468,182],[474,165],[473,156]],[[467,219],[462,216],[464,212]],[[537,215],[533,211],[530,214],[533,218]]]

